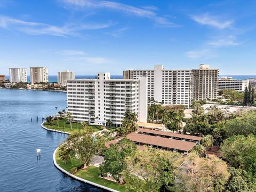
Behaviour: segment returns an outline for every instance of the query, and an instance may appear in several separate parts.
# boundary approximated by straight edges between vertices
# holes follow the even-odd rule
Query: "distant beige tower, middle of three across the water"
[[[48,82],[47,67],[30,67],[30,82],[31,84]]]

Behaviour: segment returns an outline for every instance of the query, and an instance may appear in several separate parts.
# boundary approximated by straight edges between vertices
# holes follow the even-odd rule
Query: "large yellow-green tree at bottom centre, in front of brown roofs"
[[[126,158],[124,179],[129,191],[171,190],[174,185],[170,153],[156,149],[137,150]]]

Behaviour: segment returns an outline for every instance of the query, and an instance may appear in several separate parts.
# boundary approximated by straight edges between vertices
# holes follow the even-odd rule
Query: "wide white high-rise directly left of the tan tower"
[[[129,70],[124,78],[137,79],[147,76],[148,98],[154,98],[165,105],[186,105],[191,102],[191,70],[164,69],[163,65],[155,65],[154,70]]]

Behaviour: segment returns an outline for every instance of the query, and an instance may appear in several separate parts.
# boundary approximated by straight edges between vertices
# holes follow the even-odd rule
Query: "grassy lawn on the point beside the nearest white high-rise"
[[[45,122],[46,123],[46,122]],[[57,120],[52,121],[52,125],[45,125],[47,128],[58,130],[58,131],[65,131],[65,132],[73,132],[81,130],[81,124],[73,122],[72,123],[72,130],[70,129],[70,124],[66,123],[66,118],[59,119],[59,126]],[[47,124],[47,123],[46,123]],[[93,129],[94,132],[103,130],[103,127],[100,125],[89,125]]]

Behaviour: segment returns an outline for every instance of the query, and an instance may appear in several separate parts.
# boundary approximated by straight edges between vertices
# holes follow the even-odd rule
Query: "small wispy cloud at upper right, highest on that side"
[[[219,17],[209,14],[193,15],[191,18],[201,25],[212,26],[218,29],[231,28],[234,22],[233,20],[221,20]]]

